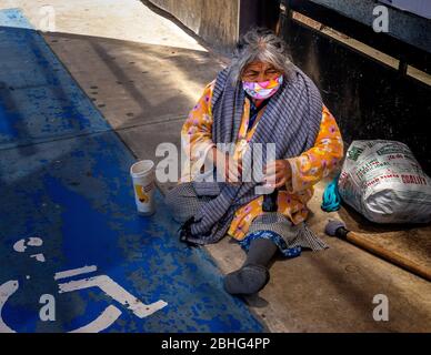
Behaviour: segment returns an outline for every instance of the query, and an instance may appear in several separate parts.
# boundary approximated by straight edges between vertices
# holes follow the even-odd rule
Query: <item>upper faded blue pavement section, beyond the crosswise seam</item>
[[[19,10],[0,26],[0,148],[110,130]]]

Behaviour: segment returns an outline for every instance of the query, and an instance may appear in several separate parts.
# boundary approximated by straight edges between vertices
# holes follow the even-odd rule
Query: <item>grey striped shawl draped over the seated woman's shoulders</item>
[[[212,141],[231,143],[238,139],[244,108],[242,83],[232,85],[230,68],[217,75],[212,94]],[[275,159],[298,156],[314,145],[322,119],[322,99],[319,90],[301,70],[294,68],[292,78],[269,100],[250,143],[275,143]],[[251,144],[252,146],[252,144]],[[248,150],[251,154],[252,149]],[[265,164],[263,145],[263,164]],[[258,197],[255,182],[239,185],[194,182],[198,195],[216,195],[194,215],[190,242],[216,243],[222,239],[235,211]],[[216,193],[214,193],[216,191]]]

